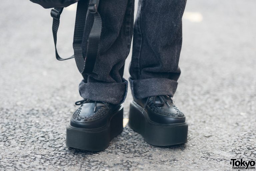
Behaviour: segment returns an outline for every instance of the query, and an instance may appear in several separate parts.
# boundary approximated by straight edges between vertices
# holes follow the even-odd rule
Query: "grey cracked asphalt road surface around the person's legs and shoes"
[[[0,170],[232,170],[256,159],[256,2],[188,1],[175,104],[188,142],[156,147],[124,128],[101,152],[68,149],[66,124],[80,100],[75,61],[55,59],[50,10],[30,1],[0,7]],[[198,14],[202,17],[199,20]],[[199,15],[199,16],[200,16]],[[72,54],[75,11],[61,17],[60,54]],[[125,78],[129,77],[126,63]],[[129,92],[124,103],[128,118]]]

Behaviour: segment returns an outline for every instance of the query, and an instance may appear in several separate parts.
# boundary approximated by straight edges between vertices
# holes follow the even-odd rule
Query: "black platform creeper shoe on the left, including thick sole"
[[[123,106],[81,100],[67,125],[67,147],[101,151],[123,131]]]

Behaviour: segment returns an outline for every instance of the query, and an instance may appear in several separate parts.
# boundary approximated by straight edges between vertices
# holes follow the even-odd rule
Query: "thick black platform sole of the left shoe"
[[[112,116],[103,128],[84,129],[67,125],[67,147],[87,151],[101,151],[109,146],[110,141],[123,131],[123,106]]]

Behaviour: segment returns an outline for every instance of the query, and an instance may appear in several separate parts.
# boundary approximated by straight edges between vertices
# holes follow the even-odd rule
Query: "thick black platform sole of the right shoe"
[[[155,146],[169,146],[187,142],[188,124],[159,124],[152,122],[137,103],[130,104],[129,126],[141,134],[144,140]]]

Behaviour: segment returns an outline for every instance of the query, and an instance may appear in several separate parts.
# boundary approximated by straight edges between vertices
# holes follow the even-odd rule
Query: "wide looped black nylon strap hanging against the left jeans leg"
[[[91,32],[88,37],[88,45],[86,56],[83,56],[82,38],[84,34],[84,25],[87,9],[85,10],[87,2],[78,1],[76,11],[76,26],[74,32],[73,48],[75,52],[76,65],[81,74],[91,73],[98,55],[98,48],[100,42],[102,20],[98,13],[99,0],[90,0],[87,9],[94,15],[94,22]]]

